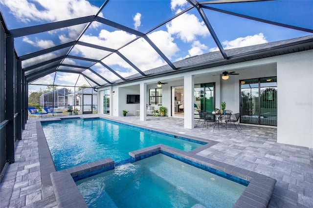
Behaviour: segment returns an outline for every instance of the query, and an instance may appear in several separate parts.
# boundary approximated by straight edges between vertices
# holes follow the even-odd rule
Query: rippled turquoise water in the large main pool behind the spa
[[[42,122],[56,170],[112,158],[115,162],[130,158],[129,152],[156,144],[184,151],[201,144],[103,119]]]

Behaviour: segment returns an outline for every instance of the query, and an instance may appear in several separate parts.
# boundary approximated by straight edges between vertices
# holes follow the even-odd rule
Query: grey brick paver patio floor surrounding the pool
[[[182,118],[149,116],[147,121],[142,122],[136,116],[80,116],[104,117],[174,134],[214,140],[218,142],[216,145],[198,154],[277,180],[268,208],[313,207],[313,149],[277,143],[276,128],[242,125],[243,130],[240,131],[235,128],[213,131],[210,126],[202,130],[201,125],[194,129],[185,129]],[[8,166],[0,184],[1,208],[57,207],[53,187],[44,187],[41,177],[36,132],[36,121],[41,119],[55,118],[31,118],[27,121],[22,140],[18,141],[15,147],[15,163]]]

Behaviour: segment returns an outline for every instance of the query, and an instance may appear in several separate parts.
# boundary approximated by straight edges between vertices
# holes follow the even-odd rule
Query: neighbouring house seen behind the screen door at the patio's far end
[[[93,88],[84,88],[75,93],[68,94],[68,105],[83,111],[91,112],[97,109],[98,92]]]

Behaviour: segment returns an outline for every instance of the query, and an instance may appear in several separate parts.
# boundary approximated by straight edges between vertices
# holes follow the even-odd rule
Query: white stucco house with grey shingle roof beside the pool
[[[297,45],[284,47],[290,42]],[[176,116],[175,88],[183,87],[184,110],[179,114],[183,113],[185,128],[194,128],[195,104],[201,110],[212,111],[226,102],[226,109],[241,112],[241,123],[277,127],[278,143],[313,148],[312,45],[312,36],[307,36],[229,49],[226,53],[233,57],[229,60],[224,60],[220,52],[191,57],[175,65],[207,62],[179,72],[158,67],[146,72],[162,73],[154,78],[98,88],[99,108],[103,109],[101,105],[105,103],[102,95],[108,94],[112,106],[108,114],[112,116],[122,116],[123,109],[129,115],[140,110],[140,120],[144,121],[147,115],[141,112],[149,104],[163,105],[167,116]],[[237,54],[244,55],[236,57]],[[227,80],[215,76],[224,71],[238,75],[228,75]],[[158,87],[159,81],[166,84]],[[113,91],[114,95],[110,94]],[[156,95],[156,91],[161,93]],[[140,104],[127,104],[128,94],[140,94]]]

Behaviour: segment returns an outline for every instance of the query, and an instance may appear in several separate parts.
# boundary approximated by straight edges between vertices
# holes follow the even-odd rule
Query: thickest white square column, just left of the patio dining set
[[[193,129],[194,120],[194,76],[184,76],[184,128]]]

